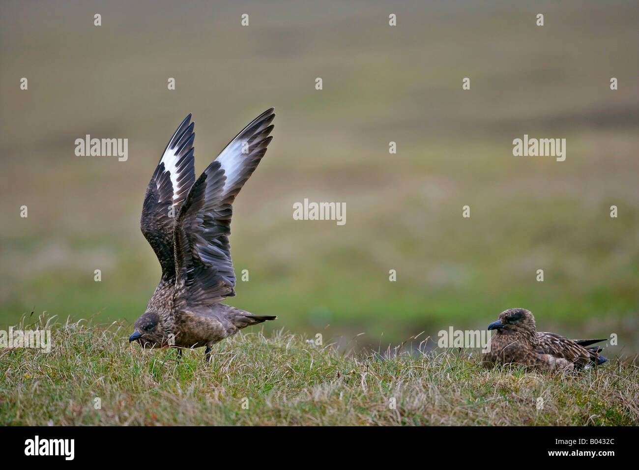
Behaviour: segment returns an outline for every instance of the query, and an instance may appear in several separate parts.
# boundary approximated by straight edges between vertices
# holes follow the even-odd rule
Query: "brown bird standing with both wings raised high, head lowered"
[[[273,137],[273,109],[253,120],[195,178],[191,115],[164,150],[142,205],[140,226],[162,278],[129,341],[144,347],[211,346],[243,327],[276,317],[221,304],[235,295],[231,262],[233,201]],[[181,352],[181,350],[180,350]]]

